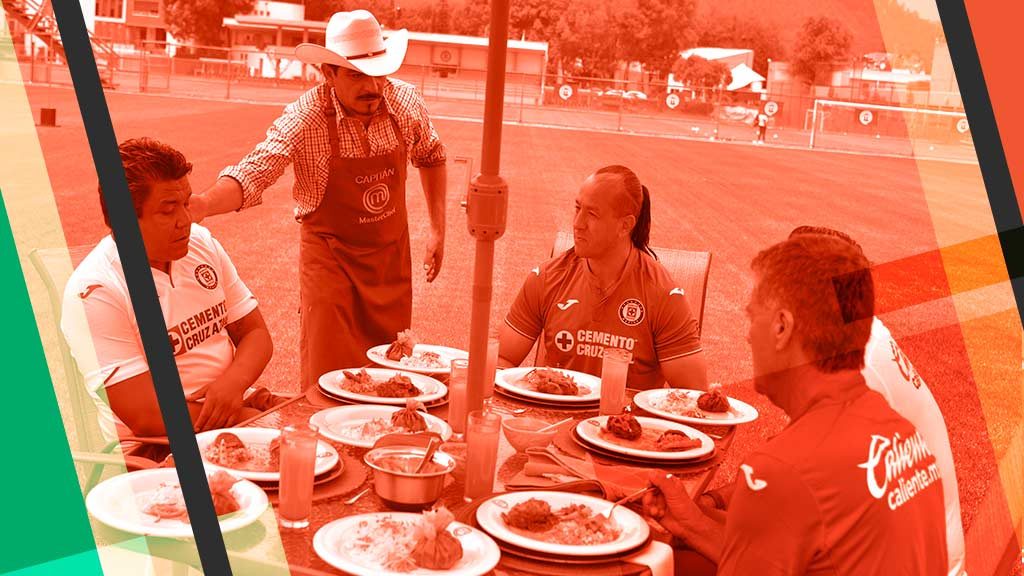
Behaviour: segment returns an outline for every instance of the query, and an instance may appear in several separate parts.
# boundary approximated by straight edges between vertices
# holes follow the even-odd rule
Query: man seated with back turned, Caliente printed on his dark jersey
[[[724,515],[664,475],[646,511],[719,574],[946,574],[935,456],[860,374],[867,260],[841,239],[798,236],[752,268],[754,384],[792,421],[744,459]]]

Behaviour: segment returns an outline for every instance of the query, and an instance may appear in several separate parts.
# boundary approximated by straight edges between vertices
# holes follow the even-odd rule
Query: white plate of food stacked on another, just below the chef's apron
[[[447,395],[447,387],[430,376],[390,368],[333,370],[319,377],[319,386],[357,404],[404,406],[410,398],[428,404]]]

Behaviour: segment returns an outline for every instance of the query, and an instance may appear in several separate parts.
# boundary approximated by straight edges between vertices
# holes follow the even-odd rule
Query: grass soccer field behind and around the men
[[[58,110],[60,126],[40,129],[40,137],[68,243],[95,243],[106,231],[74,93],[31,88],[30,96],[37,114],[40,107]],[[184,152],[195,165],[196,191],[260,141],[281,111],[278,106],[113,92],[108,104],[119,140],[153,136]],[[436,127],[450,160],[472,158],[474,168],[479,167],[481,124],[438,120]],[[629,166],[651,191],[655,246],[714,254],[703,325],[709,376],[764,416],[740,433],[719,481],[731,478],[742,455],[784,424],[780,411],[750,383],[743,306],[752,285],[749,263],[761,248],[784,239],[796,225],[828,225],[857,239],[873,261],[893,262],[989,235],[992,229],[973,165],[523,125],[506,125],[503,137],[502,174],[509,182],[510,203],[508,230],[496,249],[493,323],[504,317],[528,271],[548,257],[555,233],[568,230],[580,183],[606,164]],[[418,265],[427,219],[415,174],[411,170],[409,182],[417,273],[413,328],[426,341],[466,347],[473,243],[459,201],[467,173],[464,165],[450,163],[445,260],[439,279],[430,285]],[[262,206],[204,222],[260,300],[275,344],[264,379],[283,392],[298,386],[299,227],[292,218],[291,183],[289,170],[266,191]],[[906,272],[908,285],[882,287],[883,302],[887,294],[895,300],[906,293],[948,295],[941,268],[938,276],[934,270]],[[915,279],[922,286],[913,285]],[[1007,438],[1000,438],[992,421],[1020,418],[1019,319],[1009,311],[975,321],[993,334],[1013,334],[1017,326],[1013,341],[993,341],[986,353],[990,357],[971,359],[987,363],[985,385],[994,389],[986,394],[1002,399],[995,407],[986,404],[983,412],[955,311],[951,304],[928,310],[934,313],[928,318],[895,314],[887,322],[946,414],[967,527],[989,488],[1000,446],[1013,434],[1008,429]],[[993,429],[991,443],[980,440]]]

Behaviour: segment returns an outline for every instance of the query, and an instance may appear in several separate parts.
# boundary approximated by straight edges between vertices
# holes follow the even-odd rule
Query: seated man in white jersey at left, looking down
[[[195,428],[224,427],[258,413],[276,402],[265,388],[251,389],[272,355],[270,334],[220,243],[191,223],[191,164],[150,138],[127,140],[120,152]],[[101,194],[100,205],[110,225]],[[112,236],[69,280],[61,330],[97,401],[104,435],[164,436]]]

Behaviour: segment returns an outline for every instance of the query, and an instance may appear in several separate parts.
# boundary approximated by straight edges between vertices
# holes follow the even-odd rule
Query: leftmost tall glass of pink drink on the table
[[[285,528],[309,526],[316,464],[316,426],[285,426],[281,433],[281,492],[278,517]]]

